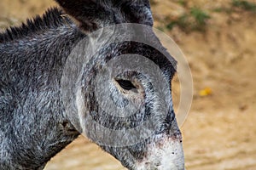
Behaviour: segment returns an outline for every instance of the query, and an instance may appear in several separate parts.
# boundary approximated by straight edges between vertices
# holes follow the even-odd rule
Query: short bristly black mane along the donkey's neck
[[[11,26],[6,31],[0,32],[0,42],[10,42],[45,29],[55,29],[59,26],[71,24],[71,20],[62,17],[64,14],[60,8],[49,8],[43,16],[36,15],[26,20],[21,26]]]

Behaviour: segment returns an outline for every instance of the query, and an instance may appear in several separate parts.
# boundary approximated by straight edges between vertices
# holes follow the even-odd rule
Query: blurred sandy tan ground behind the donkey
[[[154,26],[183,50],[194,99],[181,127],[187,170],[256,169],[256,1],[152,0]],[[0,29],[55,6],[52,0],[1,0]],[[177,77],[173,98],[178,105]],[[46,170],[125,169],[79,137]]]

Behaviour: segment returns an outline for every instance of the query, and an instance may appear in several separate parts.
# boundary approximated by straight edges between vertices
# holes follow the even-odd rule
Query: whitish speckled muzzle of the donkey
[[[161,137],[160,141],[150,144],[148,152],[137,163],[137,170],[184,170],[183,144],[181,136]]]

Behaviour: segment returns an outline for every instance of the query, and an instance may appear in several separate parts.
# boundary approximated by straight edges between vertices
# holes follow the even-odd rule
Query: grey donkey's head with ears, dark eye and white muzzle
[[[129,169],[184,169],[176,61],[154,34],[148,0],[56,1],[90,40],[84,55],[92,57],[77,62],[74,126]]]

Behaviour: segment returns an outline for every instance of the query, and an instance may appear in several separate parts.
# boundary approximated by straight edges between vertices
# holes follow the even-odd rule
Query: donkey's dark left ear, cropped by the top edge
[[[55,0],[85,31],[95,31],[108,22],[108,11],[97,0]]]

